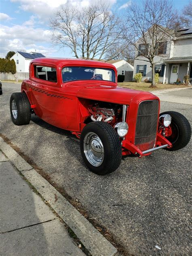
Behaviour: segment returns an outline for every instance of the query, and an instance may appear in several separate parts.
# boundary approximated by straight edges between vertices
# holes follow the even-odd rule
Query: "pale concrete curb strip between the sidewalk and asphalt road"
[[[117,249],[1,137],[0,149],[60,218],[73,230],[92,256],[113,256],[117,254]]]

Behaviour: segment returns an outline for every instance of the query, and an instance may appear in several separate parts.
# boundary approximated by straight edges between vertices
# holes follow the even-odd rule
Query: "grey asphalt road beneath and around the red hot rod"
[[[97,176],[85,167],[70,132],[35,116],[28,126],[11,122],[9,98],[19,91],[19,84],[3,83],[0,133],[43,168],[52,184],[77,198],[122,244],[125,255],[190,255],[190,145],[142,159],[127,157],[114,173]],[[161,111],[167,110],[192,121],[190,105],[162,102]]]

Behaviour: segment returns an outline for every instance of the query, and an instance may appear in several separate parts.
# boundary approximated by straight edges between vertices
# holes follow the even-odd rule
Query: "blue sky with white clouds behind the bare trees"
[[[0,0],[0,58],[8,51],[35,51],[46,57],[73,57],[69,49],[60,49],[51,44],[49,19],[61,4],[88,6],[92,0]],[[127,0],[109,1],[111,8],[123,15],[130,4]],[[140,2],[141,0],[134,0]],[[182,10],[189,0],[175,1]],[[157,0],[158,4],[158,0]]]

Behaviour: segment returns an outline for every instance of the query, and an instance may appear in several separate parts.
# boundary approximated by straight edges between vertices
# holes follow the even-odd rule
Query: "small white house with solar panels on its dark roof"
[[[35,58],[43,58],[45,57],[41,53],[26,53],[17,51],[10,60],[15,60],[16,71],[17,72],[28,72],[29,73],[29,64]]]

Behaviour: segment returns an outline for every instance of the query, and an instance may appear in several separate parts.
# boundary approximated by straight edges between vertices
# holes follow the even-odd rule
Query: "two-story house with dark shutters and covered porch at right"
[[[141,55],[142,51],[146,51],[146,47],[139,44],[138,48],[133,77],[136,73],[142,73],[142,81],[146,78],[151,81],[151,64]],[[185,75],[190,75],[192,79],[192,27],[175,30],[168,36],[159,47],[154,62],[155,72],[159,74],[159,81],[162,83],[175,83],[177,78],[183,82]]]

